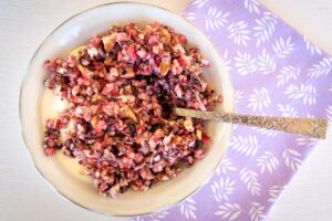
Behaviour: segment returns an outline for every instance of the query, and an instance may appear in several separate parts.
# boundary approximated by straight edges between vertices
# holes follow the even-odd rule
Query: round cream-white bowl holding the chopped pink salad
[[[210,178],[219,165],[231,134],[231,125],[208,123],[212,140],[205,159],[185,169],[177,178],[157,185],[145,192],[128,191],[116,199],[104,198],[89,177],[77,172],[76,162],[62,155],[50,158],[44,155],[41,101],[48,73],[44,60],[54,59],[87,42],[89,38],[106,31],[112,24],[135,22],[146,24],[158,21],[185,34],[190,44],[197,45],[209,60],[211,67],[205,80],[224,95],[221,109],[234,112],[234,91],[227,69],[211,42],[193,24],[165,9],[141,3],[111,3],[76,14],[58,27],[33,55],[22,82],[20,118],[25,146],[42,177],[63,197],[89,210],[112,215],[138,215],[156,212],[180,202],[197,191]]]

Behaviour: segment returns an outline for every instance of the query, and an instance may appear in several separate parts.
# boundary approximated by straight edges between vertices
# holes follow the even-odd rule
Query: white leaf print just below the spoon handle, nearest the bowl
[[[248,137],[234,136],[229,146],[231,149],[245,156],[255,156],[257,151],[257,144],[258,141],[256,136],[251,136],[251,135],[249,135]]]

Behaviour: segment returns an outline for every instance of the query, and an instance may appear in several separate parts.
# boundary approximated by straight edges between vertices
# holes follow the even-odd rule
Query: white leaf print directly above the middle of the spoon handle
[[[251,108],[253,112],[262,110],[263,107],[269,107],[271,104],[269,92],[266,87],[260,90],[255,88],[253,94],[248,98],[248,108]]]

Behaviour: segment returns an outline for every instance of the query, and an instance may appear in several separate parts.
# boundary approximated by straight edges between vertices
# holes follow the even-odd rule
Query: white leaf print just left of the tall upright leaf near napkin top
[[[231,23],[227,28],[229,32],[228,39],[232,39],[234,43],[247,46],[247,42],[250,40],[249,33],[250,31],[247,29],[248,23],[245,21],[239,21],[237,23]]]

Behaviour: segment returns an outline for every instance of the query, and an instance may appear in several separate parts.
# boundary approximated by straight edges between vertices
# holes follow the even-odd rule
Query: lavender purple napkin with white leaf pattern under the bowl
[[[193,0],[184,12],[219,49],[241,114],[332,120],[332,57],[258,0]],[[196,194],[135,220],[263,220],[318,140],[236,126],[226,157]]]

